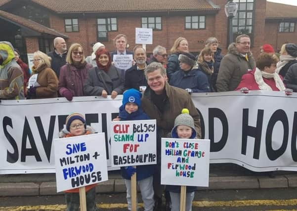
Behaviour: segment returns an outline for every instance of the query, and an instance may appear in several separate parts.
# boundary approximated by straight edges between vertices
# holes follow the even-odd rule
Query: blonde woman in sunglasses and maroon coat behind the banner
[[[87,71],[92,65],[85,62],[81,44],[73,43],[66,56],[66,64],[60,69],[59,93],[71,101],[73,96],[84,96],[84,83]]]

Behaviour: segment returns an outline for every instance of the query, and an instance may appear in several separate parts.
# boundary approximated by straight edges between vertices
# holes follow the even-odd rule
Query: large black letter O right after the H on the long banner
[[[283,124],[284,127],[284,136],[283,136],[283,143],[282,146],[277,149],[274,150],[272,148],[272,131],[273,131],[273,127],[275,126],[275,124],[281,121],[281,123]],[[288,117],[287,114],[284,110],[276,110],[269,122],[268,122],[268,126],[266,129],[266,153],[267,156],[269,158],[269,160],[271,161],[275,161],[276,159],[278,159],[282,154],[285,153],[286,149],[287,149],[287,145],[288,145],[288,140],[289,140],[289,121],[288,121]],[[276,140],[277,142],[279,140]]]

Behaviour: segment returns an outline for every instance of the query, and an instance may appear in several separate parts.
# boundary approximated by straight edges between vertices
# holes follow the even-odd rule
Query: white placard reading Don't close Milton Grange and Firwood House
[[[209,186],[210,140],[162,138],[161,184]]]

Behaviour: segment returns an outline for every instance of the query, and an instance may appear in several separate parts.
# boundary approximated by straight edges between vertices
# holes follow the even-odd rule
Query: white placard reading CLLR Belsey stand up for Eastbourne
[[[157,164],[156,120],[111,122],[112,167]]]

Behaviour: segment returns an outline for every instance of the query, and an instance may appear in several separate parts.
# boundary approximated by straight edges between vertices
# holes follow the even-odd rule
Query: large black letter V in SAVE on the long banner
[[[50,160],[50,151],[51,151],[51,143],[52,143],[52,138],[53,138],[53,133],[54,133],[54,128],[55,128],[55,120],[56,116],[50,116],[49,120],[49,127],[48,127],[48,134],[47,134],[47,139],[44,133],[44,129],[42,126],[41,118],[40,117],[34,117],[35,122],[40,134],[40,138],[42,141],[42,146],[46,155],[46,158],[49,162]]]

